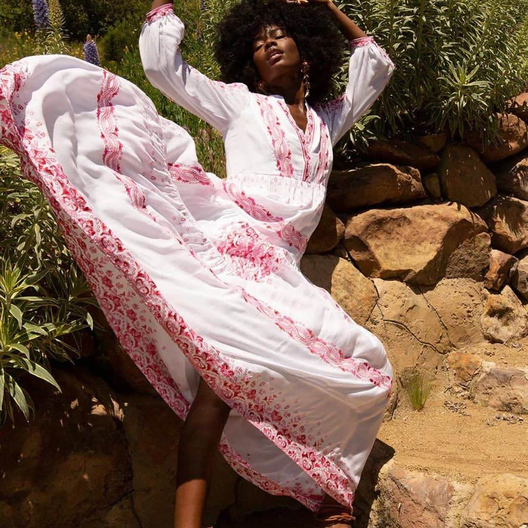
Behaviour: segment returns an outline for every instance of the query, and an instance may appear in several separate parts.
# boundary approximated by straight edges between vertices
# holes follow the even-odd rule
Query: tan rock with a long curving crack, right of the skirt
[[[419,366],[434,373],[451,344],[438,314],[417,287],[399,280],[373,279],[382,325],[376,332],[399,372]]]

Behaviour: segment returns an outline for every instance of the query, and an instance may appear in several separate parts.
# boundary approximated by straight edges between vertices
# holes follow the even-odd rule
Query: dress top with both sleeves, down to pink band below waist
[[[383,91],[393,62],[372,36],[350,41],[344,93],[316,107],[307,105],[303,131],[282,96],[209,79],[186,63],[180,53],[183,35],[172,4],[147,14],[139,37],[147,78],[220,131],[227,158],[224,195],[250,215],[255,229],[278,233],[276,243],[299,262],[323,211],[332,148]]]

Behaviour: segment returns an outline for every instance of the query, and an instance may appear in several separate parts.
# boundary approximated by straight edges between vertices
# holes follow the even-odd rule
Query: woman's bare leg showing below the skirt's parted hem
[[[230,410],[200,378],[178,446],[174,528],[202,528],[213,456]]]

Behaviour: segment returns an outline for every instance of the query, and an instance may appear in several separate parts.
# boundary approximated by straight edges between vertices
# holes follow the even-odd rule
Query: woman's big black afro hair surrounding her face
[[[310,104],[322,102],[332,89],[332,77],[343,63],[345,39],[324,5],[298,5],[284,0],[241,0],[223,16],[214,46],[225,82],[243,82],[258,91],[259,75],[253,63],[255,35],[276,24],[294,39],[309,64]]]

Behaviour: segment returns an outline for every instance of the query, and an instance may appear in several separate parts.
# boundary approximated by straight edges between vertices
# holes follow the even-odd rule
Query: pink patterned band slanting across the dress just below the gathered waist
[[[308,245],[308,238],[295,229],[291,222],[288,223],[282,216],[272,215],[270,211],[263,205],[258,204],[256,200],[248,196],[244,191],[238,191],[232,182],[224,180],[223,187],[231,200],[252,218],[261,222],[274,222],[275,225],[268,224],[268,227],[274,230],[289,246],[297,249],[300,253],[304,253]]]

